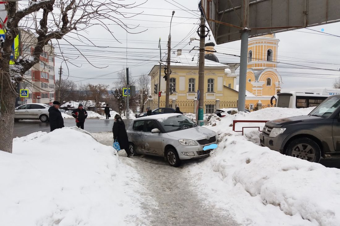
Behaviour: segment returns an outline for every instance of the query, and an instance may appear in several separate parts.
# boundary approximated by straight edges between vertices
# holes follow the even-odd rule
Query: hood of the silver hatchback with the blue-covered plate
[[[216,133],[205,127],[197,126],[185,130],[178,130],[167,133],[169,136],[178,139],[200,140],[205,139],[207,136],[215,136]]]

